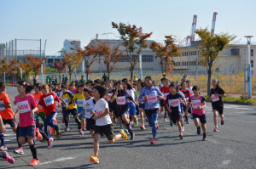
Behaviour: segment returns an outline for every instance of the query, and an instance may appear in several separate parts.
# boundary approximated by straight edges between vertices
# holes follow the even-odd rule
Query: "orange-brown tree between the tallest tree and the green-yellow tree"
[[[160,58],[162,73],[167,73],[174,69],[172,58],[178,56],[179,49],[176,40],[172,36],[166,36],[164,43],[152,42],[149,46],[155,53],[155,58]]]

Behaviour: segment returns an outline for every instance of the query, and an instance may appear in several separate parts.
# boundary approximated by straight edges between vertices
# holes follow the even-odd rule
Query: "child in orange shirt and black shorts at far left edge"
[[[3,119],[3,125],[9,124],[12,130],[16,133],[17,127],[14,121],[15,114],[12,110],[12,105],[10,104],[9,95],[3,92],[4,89],[4,82],[0,82],[0,115]],[[7,150],[8,148],[5,146],[3,132],[0,132],[0,141],[0,150]]]

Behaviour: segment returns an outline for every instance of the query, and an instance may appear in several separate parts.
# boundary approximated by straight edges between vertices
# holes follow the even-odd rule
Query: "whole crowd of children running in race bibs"
[[[78,124],[78,132],[84,135],[85,128],[90,131],[94,139],[94,155],[90,156],[90,161],[99,163],[99,142],[102,136],[108,138],[108,142],[113,144],[120,138],[126,140],[128,134],[131,140],[135,139],[132,127],[137,127],[140,115],[142,130],[145,130],[145,121],[148,121],[152,128],[151,144],[155,144],[156,133],[159,129],[158,116],[164,112],[164,121],[169,117],[171,127],[177,125],[179,138],[183,139],[183,114],[184,122],[189,124],[188,114],[195,123],[196,133],[203,132],[202,140],[207,140],[207,118],[205,114],[206,99],[200,94],[200,87],[191,87],[191,82],[170,82],[166,77],[161,79],[161,84],[156,86],[151,76],[146,76],[144,82],[134,79],[129,81],[109,81],[107,84],[96,80],[94,82],[67,84],[44,84],[38,83],[32,86],[25,80],[17,82],[19,95],[15,97],[13,104],[17,110],[12,110],[9,95],[4,93],[5,85],[0,82],[0,157],[14,163],[15,160],[6,152],[8,148],[4,142],[5,125],[9,124],[13,132],[16,133],[18,148],[15,154],[23,155],[23,144],[28,144],[32,152],[30,166],[38,165],[36,139],[48,144],[48,149],[53,147],[54,138],[61,138],[61,126],[57,124],[57,108],[62,108],[62,122],[65,124],[65,132],[71,128],[69,121],[71,118]],[[32,90],[34,93],[31,94]],[[211,95],[212,111],[214,120],[213,132],[218,132],[218,118],[224,125],[223,109],[224,90],[218,86],[218,80],[212,80]],[[209,98],[207,98],[209,99]],[[16,125],[16,115],[20,115],[19,124]],[[43,123],[39,122],[38,117]],[[113,128],[119,120],[119,134],[113,135]],[[201,122],[201,127],[200,123]],[[43,129],[44,127],[44,129]]]

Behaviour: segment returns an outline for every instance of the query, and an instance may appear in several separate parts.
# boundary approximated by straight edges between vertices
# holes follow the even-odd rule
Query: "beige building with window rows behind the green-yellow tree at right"
[[[252,43],[251,43],[252,44]],[[178,57],[173,58],[174,66],[177,70],[207,70],[206,67],[199,65],[196,59],[200,58],[200,53],[196,46],[198,42],[192,42],[190,46],[181,47],[182,54]],[[256,69],[253,67],[253,61],[256,60],[253,51],[256,51],[256,44],[251,45],[251,67],[252,73],[256,74]],[[220,59],[218,60],[219,71],[229,71],[231,68],[232,73],[237,71],[243,71],[247,68],[247,44],[236,44],[229,45],[220,54]]]

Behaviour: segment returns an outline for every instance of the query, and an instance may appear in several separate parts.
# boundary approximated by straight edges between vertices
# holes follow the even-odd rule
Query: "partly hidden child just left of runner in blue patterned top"
[[[137,82],[137,91],[135,93],[135,97],[136,97],[135,100],[136,100],[137,103],[139,103],[138,110],[139,110],[139,113],[141,115],[141,121],[142,121],[141,129],[142,130],[146,129],[145,124],[144,124],[145,104],[144,104],[144,102],[139,102],[138,99],[139,99],[140,93],[141,93],[144,86],[145,85],[144,85],[143,82]]]

